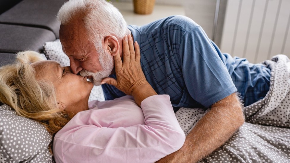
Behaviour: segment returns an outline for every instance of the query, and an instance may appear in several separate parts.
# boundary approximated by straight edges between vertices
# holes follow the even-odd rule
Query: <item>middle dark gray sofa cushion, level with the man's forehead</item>
[[[46,41],[56,38],[50,30],[20,25],[0,24],[0,31],[2,53],[18,53],[24,50],[40,52]]]

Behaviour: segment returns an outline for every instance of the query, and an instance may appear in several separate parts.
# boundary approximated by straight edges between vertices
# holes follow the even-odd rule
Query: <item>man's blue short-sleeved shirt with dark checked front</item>
[[[229,74],[238,67],[235,59],[222,54],[193,20],[172,16],[128,29],[140,45],[146,79],[158,94],[170,96],[173,107],[210,107],[238,90]],[[112,85],[102,87],[106,100],[125,95]]]

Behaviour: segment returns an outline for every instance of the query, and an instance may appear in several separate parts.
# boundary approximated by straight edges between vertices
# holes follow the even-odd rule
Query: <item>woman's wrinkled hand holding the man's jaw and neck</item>
[[[137,41],[134,45],[131,35],[126,35],[123,39],[123,61],[120,55],[114,56],[117,79],[108,77],[102,80],[102,82],[114,85],[127,95],[133,95],[134,91],[138,91],[144,85],[149,85],[141,68],[140,48]]]

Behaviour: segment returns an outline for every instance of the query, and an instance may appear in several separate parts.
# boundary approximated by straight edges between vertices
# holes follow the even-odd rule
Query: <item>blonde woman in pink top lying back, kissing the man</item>
[[[123,61],[114,56],[117,80],[104,81],[132,96],[88,103],[90,76],[36,52],[21,52],[0,69],[0,101],[55,135],[56,162],[155,162],[183,145],[169,96],[157,95],[146,81],[139,45],[135,52],[130,37],[123,39]]]

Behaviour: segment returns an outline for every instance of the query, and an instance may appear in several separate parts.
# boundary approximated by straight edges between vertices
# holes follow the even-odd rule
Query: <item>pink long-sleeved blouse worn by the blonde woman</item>
[[[185,135],[168,95],[150,96],[141,108],[132,96],[91,101],[56,135],[56,162],[155,162],[181,148]]]

